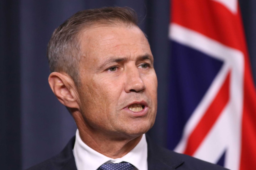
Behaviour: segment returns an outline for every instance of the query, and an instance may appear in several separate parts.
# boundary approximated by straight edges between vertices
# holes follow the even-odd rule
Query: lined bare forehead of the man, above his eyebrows
[[[136,57],[151,55],[144,33],[137,26],[94,25],[80,36],[80,49],[86,60],[104,60],[109,57]]]

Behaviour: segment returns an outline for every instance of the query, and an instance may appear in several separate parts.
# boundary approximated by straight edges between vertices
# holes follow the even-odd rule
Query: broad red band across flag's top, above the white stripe
[[[240,11],[233,14],[222,4],[210,0],[173,0],[172,7],[172,22],[244,51]]]

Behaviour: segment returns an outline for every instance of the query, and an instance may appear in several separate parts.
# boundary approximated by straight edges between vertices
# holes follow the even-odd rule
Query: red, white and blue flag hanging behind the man
[[[238,0],[172,0],[170,149],[256,169],[256,92]]]

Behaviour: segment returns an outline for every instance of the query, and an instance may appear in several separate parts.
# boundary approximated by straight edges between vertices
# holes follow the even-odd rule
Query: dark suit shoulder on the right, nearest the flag
[[[149,169],[227,170],[222,166],[202,161],[154,144],[147,136]]]

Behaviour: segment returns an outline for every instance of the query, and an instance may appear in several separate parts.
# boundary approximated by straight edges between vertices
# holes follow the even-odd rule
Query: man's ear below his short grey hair
[[[76,86],[69,75],[52,72],[48,77],[48,82],[53,93],[63,105],[79,109]]]

